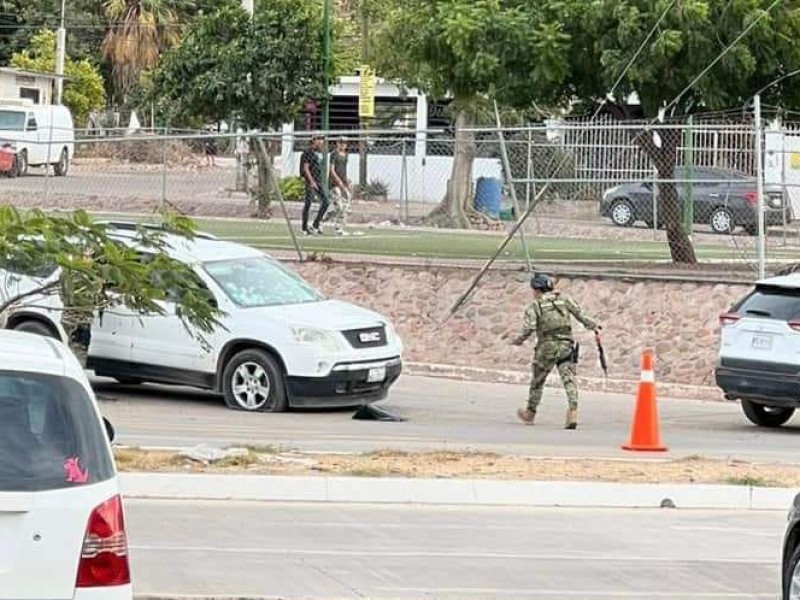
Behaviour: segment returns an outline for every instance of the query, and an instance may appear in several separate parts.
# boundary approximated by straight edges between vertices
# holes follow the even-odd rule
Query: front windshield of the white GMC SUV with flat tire
[[[243,308],[323,300],[300,276],[266,256],[208,262],[203,267],[228,297]]]

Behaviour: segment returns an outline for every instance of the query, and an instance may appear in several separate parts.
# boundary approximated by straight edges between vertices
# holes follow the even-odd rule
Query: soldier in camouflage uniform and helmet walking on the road
[[[531,287],[534,300],[525,311],[522,334],[512,342],[515,346],[521,346],[531,335],[536,334],[528,407],[517,410],[517,416],[526,425],[533,425],[536,410],[542,401],[544,382],[553,367],[556,367],[569,403],[565,427],[576,429],[578,427],[578,387],[575,383],[577,344],[572,337],[571,317],[575,317],[595,334],[599,333],[601,327],[584,315],[572,299],[554,291],[553,282],[547,275],[535,275],[531,279]]]

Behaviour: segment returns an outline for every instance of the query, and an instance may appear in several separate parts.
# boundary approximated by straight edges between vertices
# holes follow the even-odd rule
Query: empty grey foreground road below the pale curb
[[[128,501],[135,591],[775,600],[785,515]]]

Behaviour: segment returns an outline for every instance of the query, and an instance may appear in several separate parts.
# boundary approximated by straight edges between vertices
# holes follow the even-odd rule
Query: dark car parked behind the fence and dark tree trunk
[[[728,169],[678,167],[675,179],[696,182],[691,184],[696,225],[710,225],[715,233],[722,234],[732,233],[737,227],[743,227],[750,235],[758,233],[755,178]],[[675,186],[681,199],[686,199],[689,184]],[[764,205],[767,226],[783,225],[784,213],[787,224],[794,219],[789,197],[781,186],[764,186]],[[620,227],[631,227],[641,221],[652,228],[654,214],[660,225],[663,221],[658,208],[653,206],[653,183],[649,181],[610,188],[600,202],[600,214]]]

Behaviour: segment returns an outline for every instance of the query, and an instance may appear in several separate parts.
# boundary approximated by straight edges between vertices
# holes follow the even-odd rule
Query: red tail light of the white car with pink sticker
[[[122,499],[114,496],[95,508],[89,517],[75,585],[107,587],[130,582]]]

